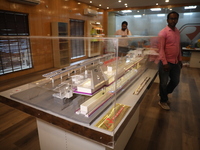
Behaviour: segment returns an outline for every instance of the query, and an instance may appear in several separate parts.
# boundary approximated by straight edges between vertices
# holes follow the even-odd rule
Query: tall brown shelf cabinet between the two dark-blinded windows
[[[52,22],[52,39],[54,67],[62,68],[70,64],[69,41],[62,37],[68,36],[68,23]]]

